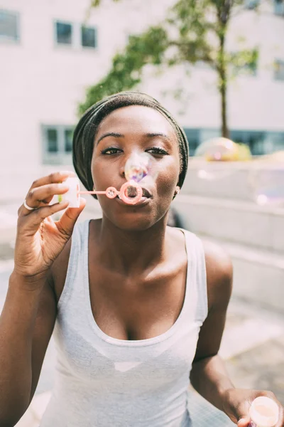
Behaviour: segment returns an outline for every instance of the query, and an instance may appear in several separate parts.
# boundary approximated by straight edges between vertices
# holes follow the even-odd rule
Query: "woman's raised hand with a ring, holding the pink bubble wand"
[[[37,179],[26,196],[26,204],[36,209],[29,211],[23,205],[18,209],[14,272],[26,279],[36,279],[46,273],[71,237],[84,209],[85,199],[81,199],[79,208],[66,209],[68,201],[49,205],[55,194],[68,191],[64,184],[68,176],[74,174],[55,172]],[[66,211],[60,220],[53,221],[50,215],[62,209]]]

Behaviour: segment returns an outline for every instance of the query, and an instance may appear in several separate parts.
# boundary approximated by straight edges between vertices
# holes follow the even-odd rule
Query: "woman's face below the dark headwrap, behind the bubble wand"
[[[104,216],[124,230],[146,230],[168,212],[178,189],[180,155],[178,139],[170,122],[151,107],[131,105],[114,110],[100,123],[94,140],[92,178],[97,191],[127,180],[126,160],[131,154],[147,152],[157,162],[158,176],[146,184],[142,204],[128,205],[120,199],[98,196]]]

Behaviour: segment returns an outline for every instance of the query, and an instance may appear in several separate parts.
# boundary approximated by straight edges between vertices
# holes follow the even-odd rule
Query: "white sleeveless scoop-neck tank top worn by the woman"
[[[175,324],[149,339],[100,330],[88,278],[89,221],[76,224],[58,316],[55,386],[40,427],[190,427],[187,388],[207,283],[200,238],[181,230],[187,251],[185,300]],[[158,303],[158,302],[157,302]]]

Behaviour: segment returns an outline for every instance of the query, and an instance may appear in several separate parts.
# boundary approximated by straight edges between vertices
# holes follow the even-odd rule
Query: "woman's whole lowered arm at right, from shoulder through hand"
[[[275,427],[284,426],[283,406],[271,391],[235,389],[219,357],[231,297],[233,269],[229,256],[216,245],[206,245],[208,315],[200,329],[197,351],[192,364],[192,386],[211,404],[224,411],[239,427],[249,427],[249,408],[258,396],[268,396],[279,406],[279,419]]]

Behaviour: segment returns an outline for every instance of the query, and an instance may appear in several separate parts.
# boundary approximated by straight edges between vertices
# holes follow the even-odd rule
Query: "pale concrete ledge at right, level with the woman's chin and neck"
[[[179,194],[174,205],[195,233],[284,252],[284,209],[185,194]]]

